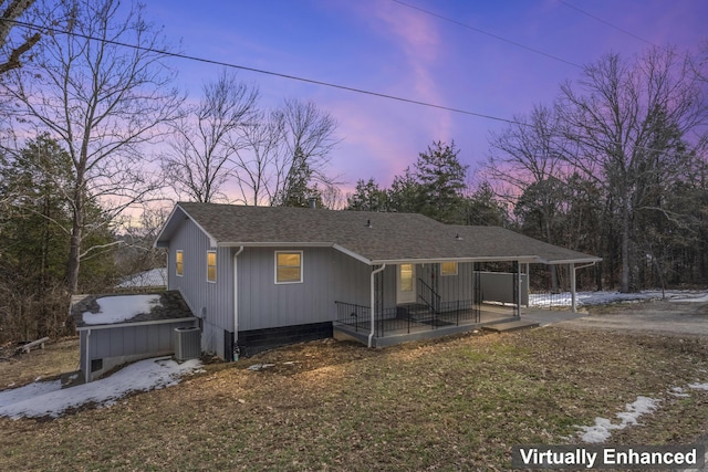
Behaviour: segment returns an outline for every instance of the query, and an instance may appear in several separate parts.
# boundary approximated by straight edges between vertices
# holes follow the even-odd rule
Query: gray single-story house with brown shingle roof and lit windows
[[[168,250],[168,290],[199,318],[202,349],[226,359],[332,335],[384,346],[518,317],[522,268],[601,260],[420,214],[197,202],[175,206],[155,245]],[[480,262],[512,270],[483,273]]]

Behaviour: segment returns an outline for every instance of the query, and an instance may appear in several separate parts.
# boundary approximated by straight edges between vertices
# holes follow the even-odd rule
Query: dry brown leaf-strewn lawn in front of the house
[[[63,348],[0,363],[0,389],[75,368],[75,359],[52,354]],[[659,409],[641,426],[615,431],[611,442],[690,443],[708,429],[708,392],[679,398],[669,390],[708,381],[707,360],[708,347],[698,338],[553,327],[383,350],[306,343],[211,364],[179,386],[110,408],[87,407],[56,420],[1,418],[0,464],[509,470],[512,445],[579,442],[579,424],[614,419],[638,395],[660,399]],[[274,366],[247,369],[257,363]]]

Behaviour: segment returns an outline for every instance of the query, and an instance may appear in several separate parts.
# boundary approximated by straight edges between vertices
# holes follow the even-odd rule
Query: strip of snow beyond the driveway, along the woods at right
[[[582,305],[604,305],[617,302],[637,302],[643,300],[662,298],[660,290],[646,290],[638,293],[620,293],[620,292],[577,292],[575,294],[577,306]],[[670,302],[708,302],[707,291],[666,291],[664,292],[666,300]],[[529,305],[535,307],[544,306],[571,306],[571,293],[531,293],[529,294]]]

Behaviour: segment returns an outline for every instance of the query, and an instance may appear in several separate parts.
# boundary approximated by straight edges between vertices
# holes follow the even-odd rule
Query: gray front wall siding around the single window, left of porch
[[[302,283],[275,283],[275,251],[302,251]],[[246,248],[237,264],[240,332],[331,322],[334,302],[369,303],[371,266],[332,248]]]

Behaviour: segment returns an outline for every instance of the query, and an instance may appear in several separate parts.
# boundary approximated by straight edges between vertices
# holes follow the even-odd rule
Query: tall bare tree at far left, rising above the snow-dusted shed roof
[[[163,133],[180,104],[169,86],[162,35],[143,17],[143,7],[117,0],[66,0],[40,4],[50,25],[54,10],[65,20],[37,44],[35,60],[14,70],[4,84],[21,105],[21,126],[49,130],[72,159],[72,202],[67,289],[77,290],[88,199],[101,203],[104,221],[145,197],[157,182],[144,170],[142,148]],[[42,12],[46,13],[45,15]],[[50,14],[52,13],[52,14]],[[129,43],[133,49],[118,43]]]

